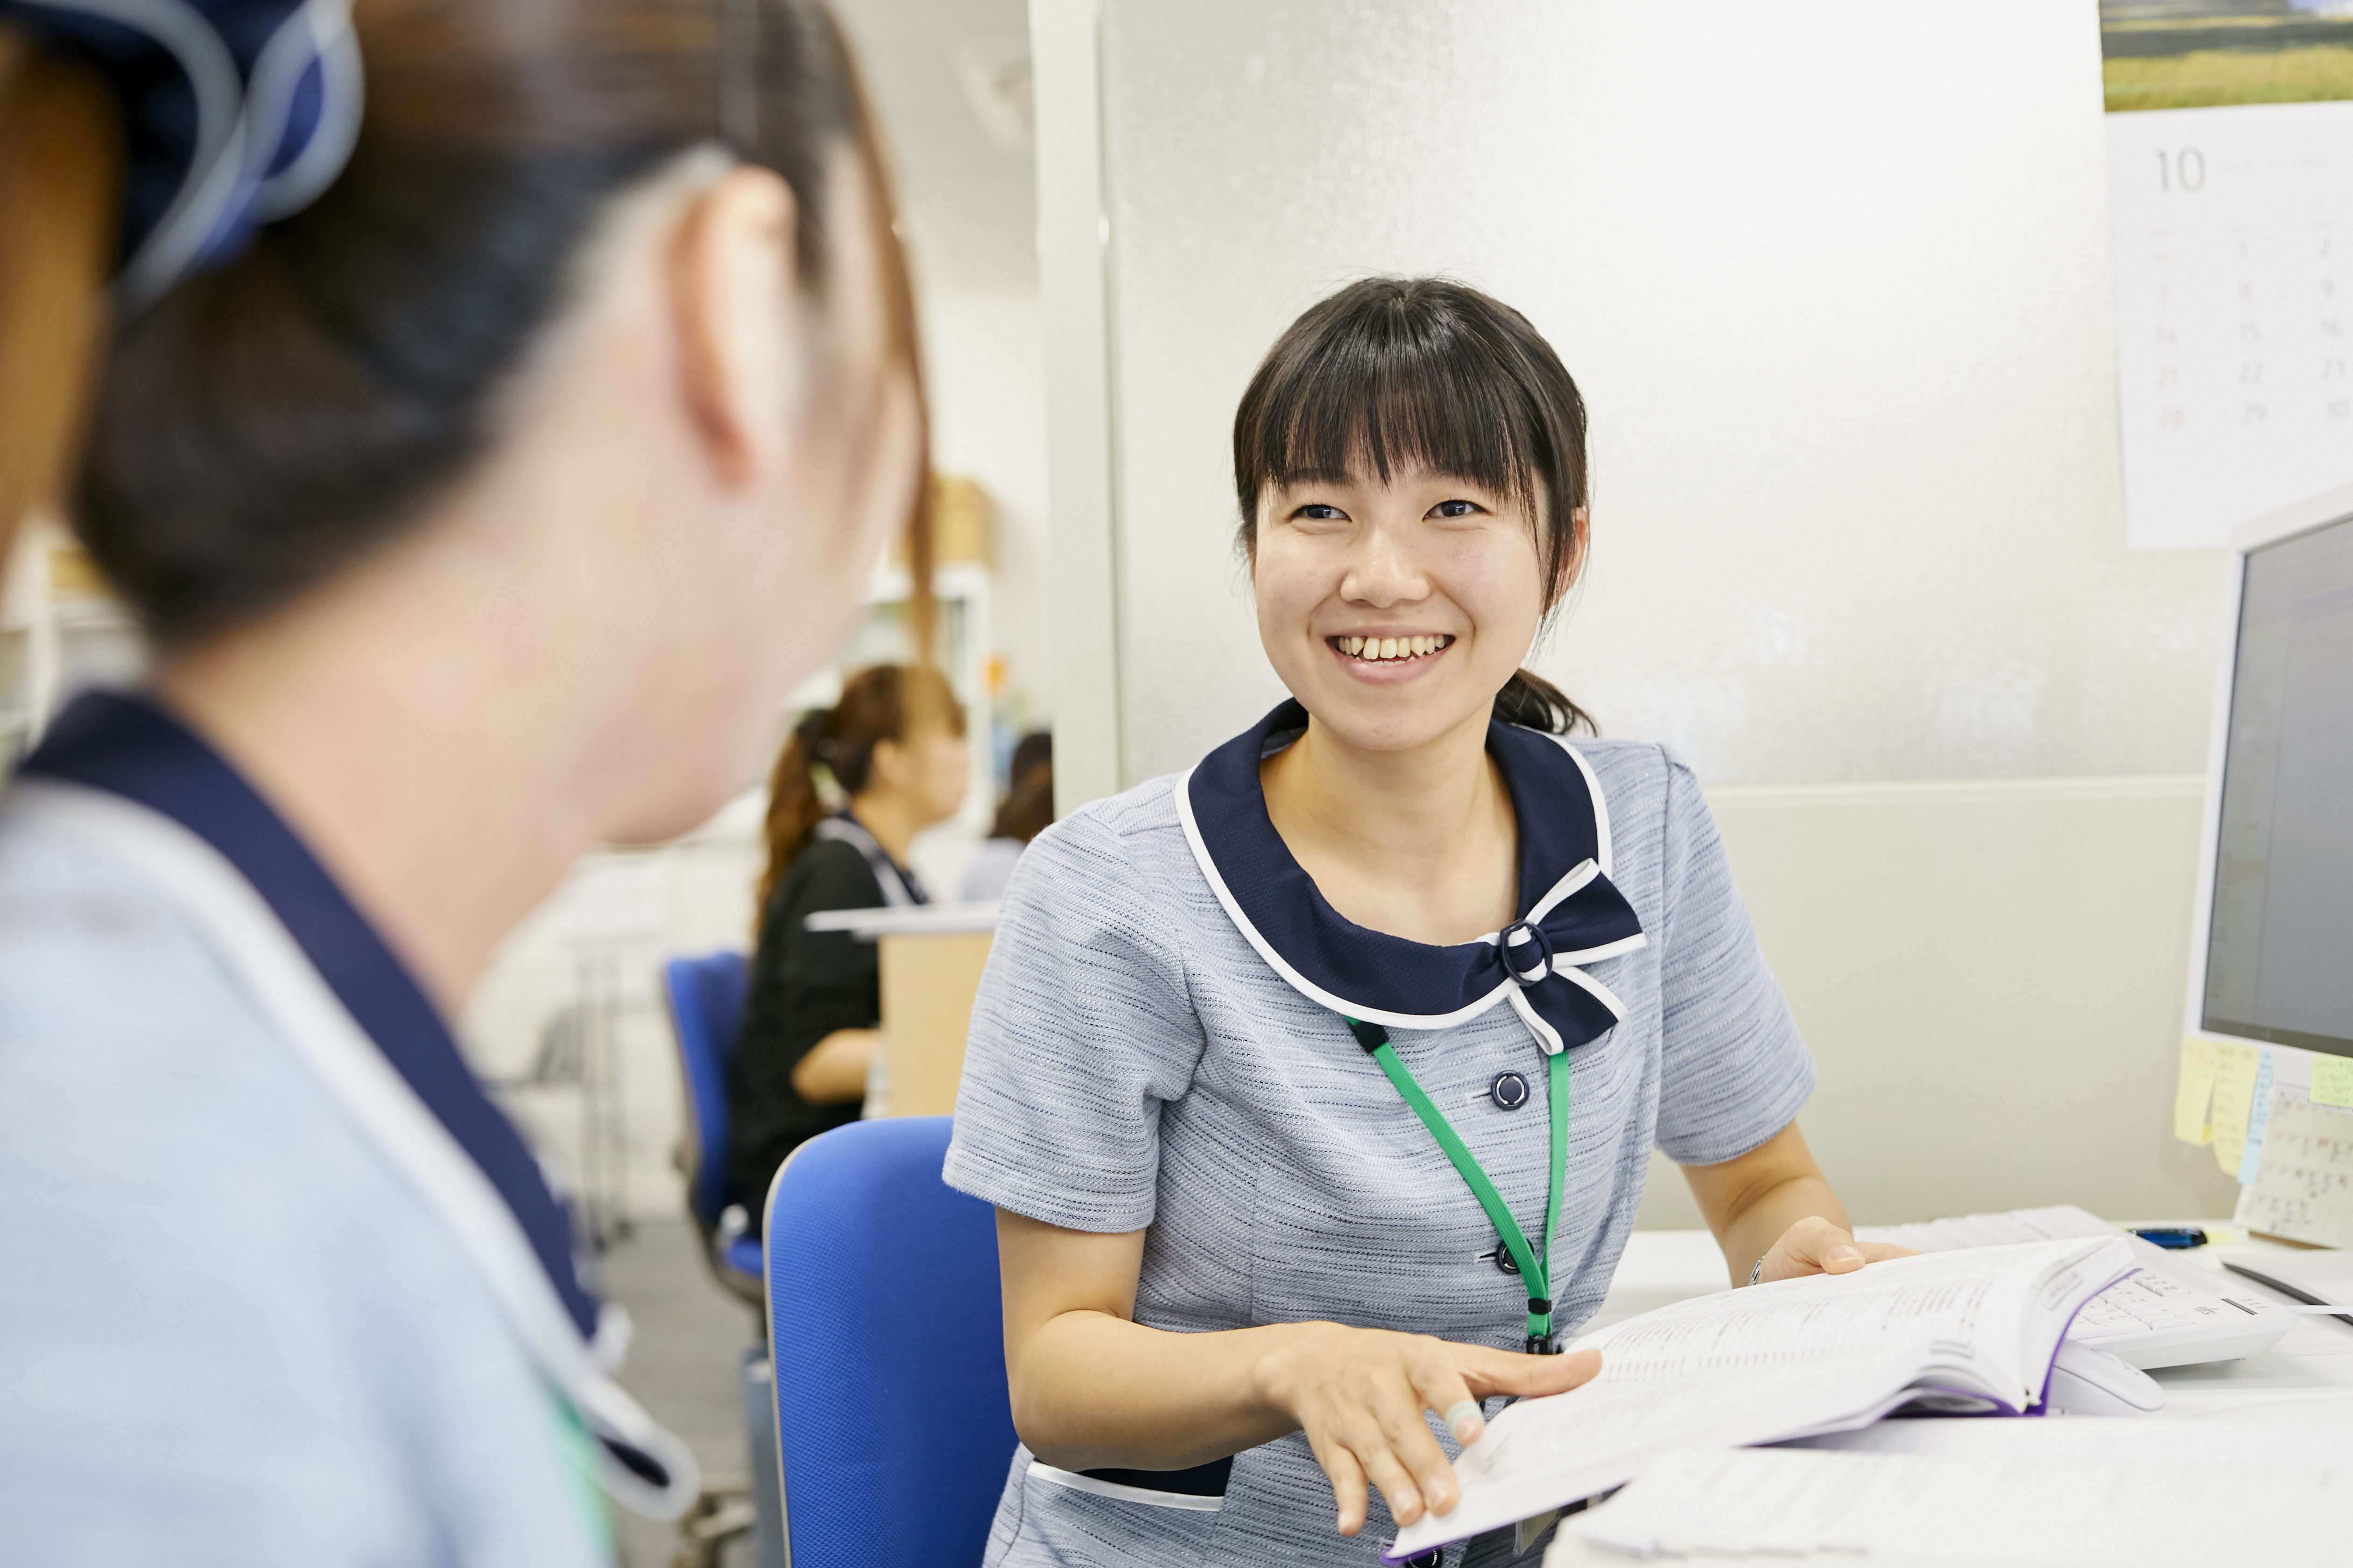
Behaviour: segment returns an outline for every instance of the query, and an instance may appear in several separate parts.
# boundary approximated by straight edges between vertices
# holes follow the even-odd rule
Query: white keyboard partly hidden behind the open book
[[[1915,1225],[1857,1225],[1857,1241],[1894,1241],[1920,1253],[1962,1246],[2009,1246],[2061,1237],[2113,1237],[2120,1227],[2097,1213],[2059,1204],[1972,1213]],[[2139,1368],[2235,1361],[2271,1349],[2297,1326],[2297,1314],[2257,1291],[2233,1291],[2219,1274],[2169,1258],[2162,1246],[2129,1237],[2139,1274],[2115,1281],[2075,1314],[2068,1338]]]

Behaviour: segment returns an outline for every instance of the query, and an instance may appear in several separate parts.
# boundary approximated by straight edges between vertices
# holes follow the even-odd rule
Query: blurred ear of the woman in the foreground
[[[807,364],[793,188],[736,165],[678,223],[671,301],[680,383],[722,487],[784,461]]]

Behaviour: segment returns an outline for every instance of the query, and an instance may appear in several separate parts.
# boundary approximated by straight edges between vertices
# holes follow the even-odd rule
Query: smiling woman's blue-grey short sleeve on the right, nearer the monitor
[[[1675,1164],[1713,1166],[1798,1119],[1814,1058],[1732,886],[1699,780],[1675,757],[1666,762],[1659,1150]]]

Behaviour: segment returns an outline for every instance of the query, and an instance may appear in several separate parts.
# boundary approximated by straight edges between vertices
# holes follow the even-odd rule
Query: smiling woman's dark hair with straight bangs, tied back
[[[1537,529],[1551,616],[1586,550],[1586,402],[1511,306],[1445,277],[1365,277],[1311,306],[1266,350],[1233,414],[1238,545],[1259,550],[1268,487],[1428,468],[1513,496]],[[1569,733],[1593,717],[1515,672],[1494,717]]]

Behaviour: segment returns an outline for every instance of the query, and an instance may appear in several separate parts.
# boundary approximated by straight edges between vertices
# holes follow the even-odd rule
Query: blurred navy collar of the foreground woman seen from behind
[[[584,1338],[595,1338],[598,1302],[581,1284],[569,1215],[539,1161],[482,1093],[449,1027],[393,950],[219,752],[151,701],[92,693],[49,724],[21,771],[132,799],[235,865],[393,1070],[499,1190],[565,1312]]]

